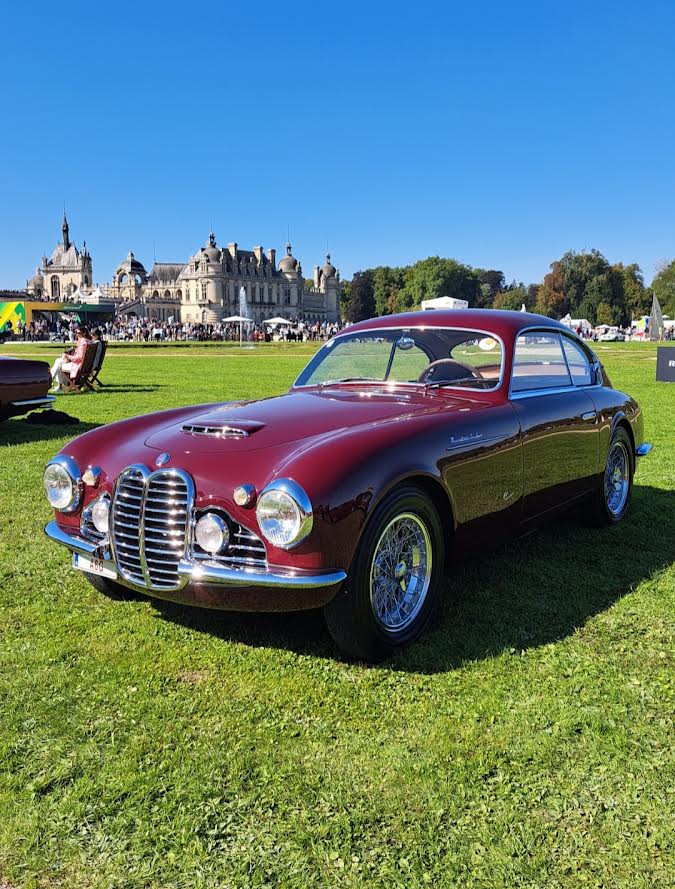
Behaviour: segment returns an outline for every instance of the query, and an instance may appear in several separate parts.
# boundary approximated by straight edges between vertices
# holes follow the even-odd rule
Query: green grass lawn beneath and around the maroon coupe
[[[6,345],[51,360],[57,347]],[[599,348],[645,411],[628,520],[458,568],[379,667],[320,614],[115,603],[47,542],[78,431],[277,393],[313,347],[127,347],[68,428],[0,426],[0,886],[675,885],[675,385]]]

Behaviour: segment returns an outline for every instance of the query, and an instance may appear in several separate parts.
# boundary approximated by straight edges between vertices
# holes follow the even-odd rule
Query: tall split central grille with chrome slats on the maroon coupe
[[[150,473],[130,466],[113,496],[111,543],[122,577],[138,586],[180,586],[178,563],[185,553],[194,486],[177,469]]]

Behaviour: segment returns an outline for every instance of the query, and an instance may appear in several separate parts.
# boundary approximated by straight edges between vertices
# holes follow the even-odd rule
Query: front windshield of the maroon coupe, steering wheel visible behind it
[[[368,381],[494,389],[502,361],[500,340],[480,331],[427,327],[346,333],[317,352],[295,385]]]

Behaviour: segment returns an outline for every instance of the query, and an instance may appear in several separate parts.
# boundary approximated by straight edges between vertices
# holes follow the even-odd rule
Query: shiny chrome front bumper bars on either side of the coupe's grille
[[[50,540],[68,547],[71,552],[100,559],[106,567],[117,570],[107,545],[92,543],[92,541],[85,540],[79,534],[69,534],[62,528],[59,528],[55,521],[45,525],[45,534]],[[321,587],[336,586],[338,583],[342,583],[347,576],[345,571],[327,571],[323,574],[297,574],[292,571],[288,573],[252,571],[243,568],[225,568],[222,565],[209,564],[209,562],[199,562],[199,564],[196,564],[189,559],[181,560],[178,565],[178,574],[186,585],[194,583],[239,588],[271,587],[280,590],[314,590]],[[146,589],[146,587],[136,587],[135,584],[129,584],[122,577],[119,577],[119,582],[124,586]],[[153,592],[153,589],[150,587],[148,591]]]

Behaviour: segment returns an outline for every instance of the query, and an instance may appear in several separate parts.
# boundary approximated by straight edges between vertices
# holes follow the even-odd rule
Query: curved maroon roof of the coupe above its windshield
[[[497,336],[513,337],[523,328],[548,327],[567,331],[559,321],[531,312],[512,312],[505,309],[431,309],[418,312],[400,312],[369,318],[345,328],[343,333],[359,330],[376,330],[390,327],[466,327],[469,330],[486,331]]]

